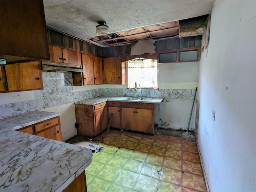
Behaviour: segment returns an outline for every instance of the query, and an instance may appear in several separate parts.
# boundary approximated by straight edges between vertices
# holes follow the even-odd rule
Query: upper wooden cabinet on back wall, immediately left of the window
[[[120,57],[103,59],[104,84],[126,84],[126,64],[120,62]]]

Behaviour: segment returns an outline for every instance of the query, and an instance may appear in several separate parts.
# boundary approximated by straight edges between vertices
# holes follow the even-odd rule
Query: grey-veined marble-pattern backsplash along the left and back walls
[[[71,72],[42,72],[44,90],[35,90],[35,99],[24,102],[0,105],[0,119],[16,116],[35,110],[67,104],[87,98],[98,96],[146,96],[155,98],[193,99],[194,90],[160,89],[140,90],[134,89],[98,88],[86,91],[73,91]]]

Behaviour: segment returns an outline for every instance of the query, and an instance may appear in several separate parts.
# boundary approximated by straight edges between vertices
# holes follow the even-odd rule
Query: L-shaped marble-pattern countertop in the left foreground
[[[1,192],[62,192],[90,165],[90,149],[13,130],[56,116],[35,111],[1,120]]]

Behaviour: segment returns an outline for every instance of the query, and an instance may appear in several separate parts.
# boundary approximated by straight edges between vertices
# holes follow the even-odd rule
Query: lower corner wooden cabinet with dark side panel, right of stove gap
[[[75,104],[77,134],[94,137],[108,127],[106,102],[97,105]]]

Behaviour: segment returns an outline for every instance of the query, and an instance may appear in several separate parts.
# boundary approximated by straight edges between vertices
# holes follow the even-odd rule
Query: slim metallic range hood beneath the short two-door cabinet
[[[52,63],[41,61],[42,71],[49,72],[83,72],[80,65],[66,63]]]

